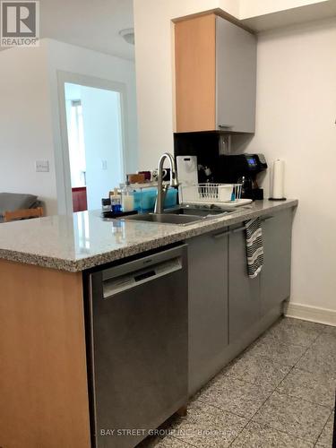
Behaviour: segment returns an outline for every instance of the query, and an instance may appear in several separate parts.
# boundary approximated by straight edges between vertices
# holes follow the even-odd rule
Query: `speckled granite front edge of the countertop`
[[[188,226],[176,226],[171,224],[159,224],[170,228],[168,235],[164,237],[151,238],[139,243],[133,243],[129,246],[108,250],[107,252],[101,252],[99,254],[88,255],[77,260],[56,258],[53,256],[30,254],[27,252],[20,252],[9,249],[0,248],[0,259],[4,259],[16,263],[33,264],[40,267],[46,267],[50,269],[56,269],[58,271],[80,272],[90,268],[115,262],[125,257],[135,254],[141,254],[142,252],[149,251],[151,249],[157,249],[162,246],[168,246],[191,237],[197,237],[212,230],[218,230],[228,226],[235,225],[243,220],[251,220],[258,216],[270,214],[270,212],[281,211],[297,206],[297,200],[287,200],[284,202],[267,202],[264,209],[242,209],[234,214],[222,218],[215,218],[207,221],[196,222]],[[139,221],[137,221],[139,222]]]

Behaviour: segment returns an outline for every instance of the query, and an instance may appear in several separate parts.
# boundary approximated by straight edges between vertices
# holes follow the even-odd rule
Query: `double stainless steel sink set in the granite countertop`
[[[202,220],[220,218],[222,216],[228,215],[228,213],[233,213],[235,211],[237,210],[181,206],[174,209],[166,210],[163,213],[131,215],[123,218],[123,220],[137,220],[143,222],[158,222],[161,224],[177,224],[178,226],[188,226]]]

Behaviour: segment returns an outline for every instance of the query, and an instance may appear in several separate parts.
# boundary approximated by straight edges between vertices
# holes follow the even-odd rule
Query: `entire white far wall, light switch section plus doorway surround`
[[[38,194],[47,214],[65,212],[57,70],[125,83],[126,168],[138,168],[133,61],[42,39],[40,47],[1,51],[0,67],[0,191]],[[39,159],[49,173],[35,172]]]

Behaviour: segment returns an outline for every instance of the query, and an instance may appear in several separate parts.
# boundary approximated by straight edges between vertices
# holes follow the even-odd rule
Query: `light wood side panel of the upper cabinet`
[[[216,126],[216,16],[175,25],[177,132]]]

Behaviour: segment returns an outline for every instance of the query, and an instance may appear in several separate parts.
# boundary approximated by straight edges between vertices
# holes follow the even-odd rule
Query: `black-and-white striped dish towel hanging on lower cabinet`
[[[263,231],[259,218],[245,222],[247,273],[254,279],[263,269]]]

